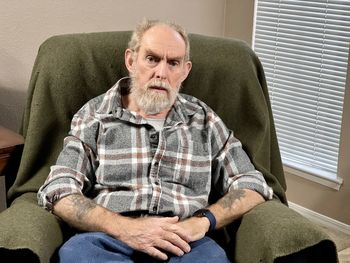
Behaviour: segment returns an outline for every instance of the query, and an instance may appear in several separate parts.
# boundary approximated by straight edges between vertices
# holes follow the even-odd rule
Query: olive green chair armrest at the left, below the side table
[[[17,197],[0,213],[0,258],[16,262],[57,262],[57,248],[72,230],[37,204],[36,193]]]

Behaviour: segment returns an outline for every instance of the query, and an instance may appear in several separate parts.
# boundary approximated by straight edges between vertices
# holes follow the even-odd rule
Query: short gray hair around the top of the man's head
[[[188,35],[185,31],[185,29],[173,22],[164,22],[160,20],[148,20],[143,19],[137,26],[135,31],[132,33],[131,39],[128,44],[128,48],[130,48],[133,51],[138,52],[141,45],[141,40],[143,35],[146,33],[147,30],[151,29],[154,26],[158,25],[165,25],[170,27],[171,29],[175,30],[177,33],[180,34],[182,39],[185,41],[186,45],[186,53],[185,53],[185,61],[188,61],[190,59],[190,41],[188,39]]]

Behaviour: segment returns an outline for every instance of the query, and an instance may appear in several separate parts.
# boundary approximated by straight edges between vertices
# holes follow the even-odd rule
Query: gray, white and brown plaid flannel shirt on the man
[[[38,192],[52,210],[60,198],[83,193],[123,213],[191,216],[206,207],[212,188],[251,189],[272,198],[240,141],[200,100],[179,94],[157,132],[123,109],[128,78],[90,100],[73,117],[71,131]]]

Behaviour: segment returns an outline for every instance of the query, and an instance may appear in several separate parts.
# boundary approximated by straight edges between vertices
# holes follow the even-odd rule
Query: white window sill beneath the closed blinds
[[[329,178],[318,176],[315,174],[306,173],[286,165],[283,166],[283,170],[291,175],[302,177],[306,180],[322,184],[324,186],[330,187],[337,191],[339,191],[340,186],[343,184],[343,179],[340,177],[337,177],[336,179],[329,179]]]

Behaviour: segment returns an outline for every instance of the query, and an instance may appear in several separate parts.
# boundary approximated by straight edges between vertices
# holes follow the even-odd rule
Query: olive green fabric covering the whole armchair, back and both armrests
[[[73,114],[127,76],[124,50],[129,37],[130,32],[72,34],[52,37],[41,45],[23,118],[22,160],[8,193],[12,203],[0,214],[0,258],[54,261],[55,251],[71,234],[64,223],[37,206],[36,192],[62,149]],[[286,184],[258,58],[241,41],[195,34],[190,41],[193,68],[182,92],[205,101],[222,117],[274,190],[274,201],[259,205],[227,228],[227,251],[236,262],[273,262],[326,241],[336,261],[328,236],[286,205]],[[215,197],[213,193],[213,201]]]

